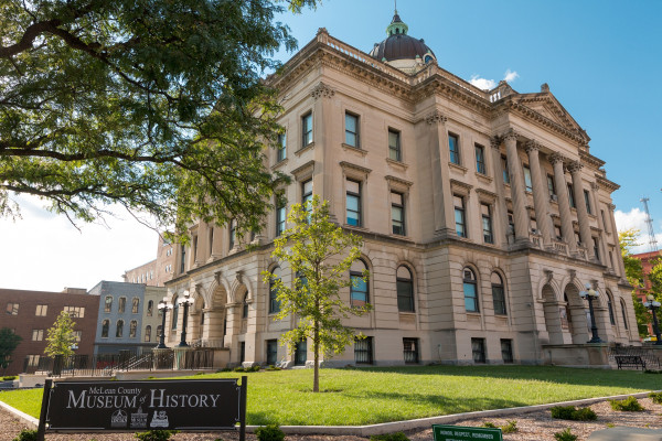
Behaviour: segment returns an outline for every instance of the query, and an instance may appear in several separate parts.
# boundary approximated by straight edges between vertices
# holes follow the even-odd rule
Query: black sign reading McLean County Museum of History
[[[243,429],[245,386],[246,377],[242,386],[236,378],[57,381],[44,390],[43,423],[53,431]]]

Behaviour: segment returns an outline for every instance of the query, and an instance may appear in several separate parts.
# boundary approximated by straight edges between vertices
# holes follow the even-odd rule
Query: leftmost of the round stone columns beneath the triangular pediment
[[[526,193],[522,162],[517,155],[517,133],[511,129],[503,137],[508,170],[511,176],[511,193],[513,198],[513,215],[515,216],[515,243],[528,241],[528,214],[526,213]]]

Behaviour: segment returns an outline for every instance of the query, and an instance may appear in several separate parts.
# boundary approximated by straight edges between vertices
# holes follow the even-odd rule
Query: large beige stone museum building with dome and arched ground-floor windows
[[[397,13],[370,54],[320,29],[267,80],[286,132],[266,154],[292,178],[288,204],[266,219],[256,250],[233,224],[205,223],[191,227],[193,247],[175,249],[167,288],[173,301],[185,290],[195,299],[192,342],[229,348],[232,364],[310,363],[305,342],[291,355],[278,345],[293,319],[274,320],[260,272],[292,281],[270,257],[273,239],[290,205],[318,194],[364,238],[356,269],[370,281],[342,295],[373,305],[346,322],[367,338],[329,365],[595,363],[587,286],[600,294],[602,341],[638,344],[618,185],[546,84],[479,89],[439,67]],[[167,319],[173,344],[182,314]]]

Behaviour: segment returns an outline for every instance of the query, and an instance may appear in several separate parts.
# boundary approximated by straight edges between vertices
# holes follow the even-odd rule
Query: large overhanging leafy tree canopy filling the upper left
[[[15,192],[72,222],[119,203],[255,229],[282,179],[260,76],[296,46],[275,17],[316,2],[0,0],[0,215]]]

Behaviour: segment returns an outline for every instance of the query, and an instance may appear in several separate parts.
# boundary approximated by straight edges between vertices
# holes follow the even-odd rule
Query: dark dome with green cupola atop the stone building
[[[375,46],[370,52],[370,56],[382,62],[397,62],[397,61],[412,61],[415,65],[421,65],[437,61],[435,53],[430,50],[423,39],[418,40],[407,35],[408,26],[401,20],[397,11],[391,21],[388,28],[386,28],[386,40],[381,43],[375,43]],[[389,63],[402,67],[402,62]]]

